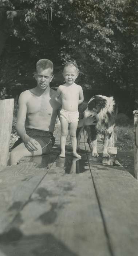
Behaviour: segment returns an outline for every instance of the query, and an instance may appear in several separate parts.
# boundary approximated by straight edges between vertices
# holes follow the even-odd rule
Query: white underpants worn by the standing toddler
[[[60,117],[63,118],[64,120],[66,120],[68,122],[68,124],[79,121],[79,111],[78,110],[77,111],[67,111],[67,110],[61,109],[59,113],[60,113]]]

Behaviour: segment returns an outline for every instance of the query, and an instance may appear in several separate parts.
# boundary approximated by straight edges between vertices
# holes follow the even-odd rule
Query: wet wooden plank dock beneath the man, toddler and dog
[[[137,256],[138,181],[111,159],[53,152],[0,172],[0,256]],[[101,142],[98,142],[101,152]]]

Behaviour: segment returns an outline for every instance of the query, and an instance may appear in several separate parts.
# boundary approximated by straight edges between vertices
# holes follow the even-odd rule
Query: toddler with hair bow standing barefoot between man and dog
[[[65,157],[65,145],[66,138],[68,135],[68,124],[70,125],[70,136],[73,155],[76,158],[81,158],[76,152],[77,139],[76,129],[78,127],[79,112],[78,105],[83,102],[83,91],[82,87],[75,83],[78,77],[79,69],[76,62],[66,61],[64,63],[63,77],[65,84],[60,85],[57,90],[56,101],[62,104],[60,110],[60,123],[61,123],[61,154],[60,157]],[[59,98],[60,97],[60,98]]]

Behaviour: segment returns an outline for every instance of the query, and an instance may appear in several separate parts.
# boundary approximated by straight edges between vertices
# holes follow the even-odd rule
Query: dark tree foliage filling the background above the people
[[[75,59],[83,88],[137,92],[137,0],[1,0],[1,84],[21,83],[40,58]],[[5,41],[4,41],[5,40]]]

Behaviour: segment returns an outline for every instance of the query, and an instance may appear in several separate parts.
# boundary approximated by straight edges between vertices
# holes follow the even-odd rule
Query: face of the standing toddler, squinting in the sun
[[[63,77],[65,79],[66,84],[71,85],[75,82],[78,73],[75,67],[65,67],[63,70]]]

